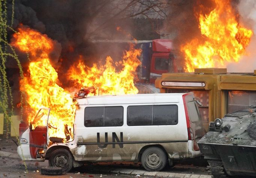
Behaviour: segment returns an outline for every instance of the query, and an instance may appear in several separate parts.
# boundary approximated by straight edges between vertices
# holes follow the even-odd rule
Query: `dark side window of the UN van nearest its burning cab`
[[[100,106],[86,107],[84,109],[84,126],[122,126],[123,107],[122,106]]]

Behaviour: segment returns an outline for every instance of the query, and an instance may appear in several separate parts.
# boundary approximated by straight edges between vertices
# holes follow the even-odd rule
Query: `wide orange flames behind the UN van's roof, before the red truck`
[[[137,94],[134,78],[140,65],[140,53],[141,49],[135,49],[134,45],[130,45],[130,50],[124,52],[122,61],[115,63],[116,67],[122,67],[120,72],[116,71],[110,56],[106,58],[105,65],[93,64],[91,68],[80,59],[68,70],[68,78],[75,81],[78,87],[97,87],[96,93],[100,95]]]

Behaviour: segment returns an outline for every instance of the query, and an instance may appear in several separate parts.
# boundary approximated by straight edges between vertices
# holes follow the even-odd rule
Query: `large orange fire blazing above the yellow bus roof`
[[[185,53],[185,70],[195,68],[225,67],[239,61],[253,34],[236,20],[236,13],[229,0],[213,0],[215,8],[208,14],[199,13],[202,36],[182,46]]]

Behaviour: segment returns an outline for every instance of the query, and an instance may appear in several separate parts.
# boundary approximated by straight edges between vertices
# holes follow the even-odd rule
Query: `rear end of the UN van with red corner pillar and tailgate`
[[[194,141],[194,150],[199,150],[197,142],[205,135],[201,114],[197,106],[198,102],[193,93],[186,93],[183,96],[185,114],[188,128],[188,140]]]

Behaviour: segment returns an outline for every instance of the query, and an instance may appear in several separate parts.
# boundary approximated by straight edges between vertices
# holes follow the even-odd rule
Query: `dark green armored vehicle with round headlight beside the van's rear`
[[[226,114],[209,123],[198,142],[214,178],[256,176],[256,107]]]

